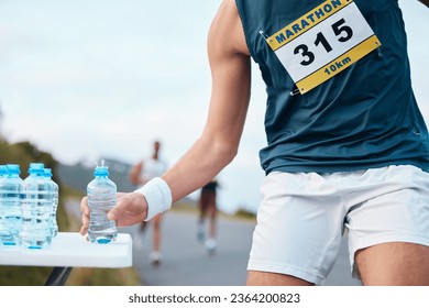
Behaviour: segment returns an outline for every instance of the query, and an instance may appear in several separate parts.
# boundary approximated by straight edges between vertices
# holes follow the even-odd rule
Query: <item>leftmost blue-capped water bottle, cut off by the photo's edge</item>
[[[19,246],[22,223],[20,166],[8,164],[0,179],[0,243]],[[3,170],[4,172],[4,170]]]

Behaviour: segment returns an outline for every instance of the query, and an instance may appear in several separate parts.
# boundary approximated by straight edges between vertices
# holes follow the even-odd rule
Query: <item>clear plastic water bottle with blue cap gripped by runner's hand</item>
[[[116,222],[107,218],[107,213],[117,204],[117,185],[109,179],[105,162],[101,162],[101,166],[96,166],[94,176],[87,186],[90,211],[88,238],[92,243],[107,244],[118,237]]]

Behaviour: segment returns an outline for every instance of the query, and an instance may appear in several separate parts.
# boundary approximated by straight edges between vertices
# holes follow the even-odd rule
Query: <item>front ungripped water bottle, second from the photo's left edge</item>
[[[46,249],[51,245],[50,185],[44,177],[44,165],[30,164],[23,182],[21,245],[25,249]]]

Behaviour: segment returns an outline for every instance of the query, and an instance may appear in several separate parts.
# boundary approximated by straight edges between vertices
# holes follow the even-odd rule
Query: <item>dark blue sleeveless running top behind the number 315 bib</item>
[[[345,1],[237,0],[248,47],[266,84],[267,146],[260,152],[266,174],[404,164],[429,172],[428,130],[411,89],[397,0],[355,0],[381,47],[302,95],[292,95],[295,82],[261,34],[310,19],[308,12],[320,4],[329,9]]]

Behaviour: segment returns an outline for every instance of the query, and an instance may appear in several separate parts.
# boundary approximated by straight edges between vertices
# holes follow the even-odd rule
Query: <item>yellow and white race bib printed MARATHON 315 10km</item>
[[[266,37],[300,94],[381,46],[353,0],[328,0]]]

